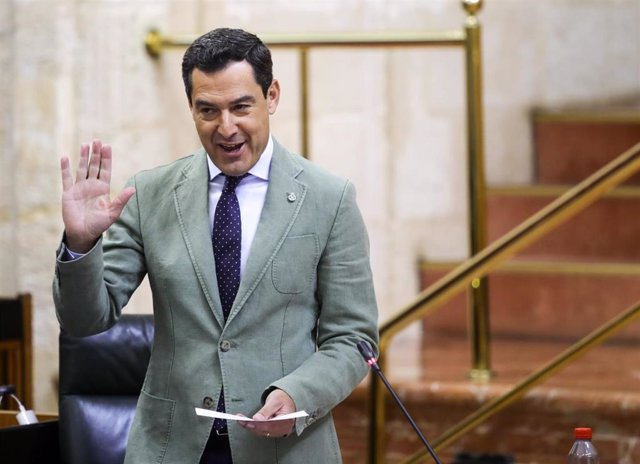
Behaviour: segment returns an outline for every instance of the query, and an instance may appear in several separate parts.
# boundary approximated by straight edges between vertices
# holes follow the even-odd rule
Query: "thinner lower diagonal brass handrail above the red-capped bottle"
[[[447,447],[478,424],[484,422],[492,415],[522,398],[529,390],[544,382],[567,364],[570,364],[595,346],[607,340],[620,329],[633,322],[633,320],[638,316],[640,316],[640,301],[624,310],[620,315],[604,323],[586,337],[571,345],[561,354],[549,361],[544,367],[538,369],[524,380],[518,382],[516,386],[502,396],[483,404],[479,409],[469,414],[458,424],[446,430],[433,441],[433,448],[438,451]],[[420,459],[425,456],[427,456],[426,451],[417,452],[404,461],[403,464],[420,462]]]

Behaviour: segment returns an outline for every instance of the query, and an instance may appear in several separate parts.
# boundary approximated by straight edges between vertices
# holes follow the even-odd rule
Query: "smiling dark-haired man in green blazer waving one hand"
[[[148,275],[155,340],[127,463],[341,462],[330,411],[366,374],[356,343],[377,343],[354,189],[271,137],[280,85],[256,36],[211,31],[182,68],[204,150],[113,200],[108,145],[82,146],[75,181],[61,160],[60,323],[108,329]]]

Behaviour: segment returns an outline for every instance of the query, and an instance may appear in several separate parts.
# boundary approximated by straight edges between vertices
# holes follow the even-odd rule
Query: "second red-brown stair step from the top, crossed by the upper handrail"
[[[487,194],[489,242],[560,196],[567,187],[502,187]],[[520,256],[620,262],[640,261],[640,189],[616,189],[596,200]]]

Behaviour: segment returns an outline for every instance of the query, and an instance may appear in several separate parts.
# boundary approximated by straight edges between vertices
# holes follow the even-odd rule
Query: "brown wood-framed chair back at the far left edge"
[[[15,385],[16,396],[33,407],[31,295],[0,298],[0,384]],[[8,401],[3,407],[14,407]],[[2,407],[2,405],[0,405]]]

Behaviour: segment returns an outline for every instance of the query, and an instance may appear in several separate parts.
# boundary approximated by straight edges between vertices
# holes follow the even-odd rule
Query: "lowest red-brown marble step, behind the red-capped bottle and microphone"
[[[494,378],[489,384],[475,384],[466,378],[470,359],[466,339],[434,336],[421,341],[400,335],[392,343],[385,371],[433,441],[565,348],[557,342],[494,340]],[[523,464],[561,463],[571,447],[573,428],[581,425],[594,428],[601,464],[640,462],[639,383],[635,350],[597,347],[439,454],[448,463],[461,452],[511,455]],[[363,384],[334,410],[345,463],[366,462],[366,395]],[[386,410],[385,462],[400,463],[420,451],[422,444],[395,403],[389,400]]]

